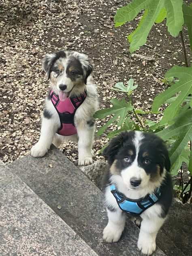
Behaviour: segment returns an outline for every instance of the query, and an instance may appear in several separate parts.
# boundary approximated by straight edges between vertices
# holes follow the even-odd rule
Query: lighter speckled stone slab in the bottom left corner
[[[24,162],[27,169],[28,163]],[[1,256],[97,256],[13,173],[0,165]]]

